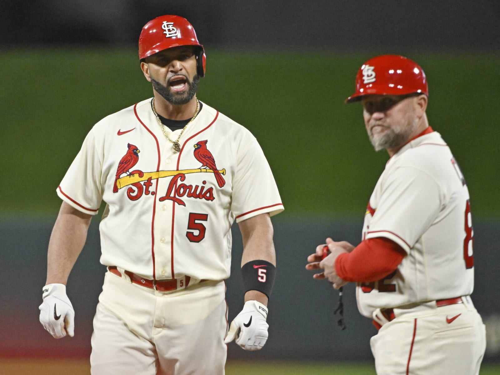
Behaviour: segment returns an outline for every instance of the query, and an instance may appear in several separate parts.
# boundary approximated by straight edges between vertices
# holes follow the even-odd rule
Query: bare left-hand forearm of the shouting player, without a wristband
[[[45,284],[66,284],[69,272],[85,244],[91,218],[92,215],[62,202],[48,242]]]

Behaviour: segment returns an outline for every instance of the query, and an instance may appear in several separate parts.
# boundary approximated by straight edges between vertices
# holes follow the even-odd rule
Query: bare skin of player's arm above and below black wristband
[[[239,230],[243,239],[241,265],[256,259],[267,260],[276,265],[276,253],[272,241],[273,229],[268,213],[262,213],[239,222]],[[267,305],[267,296],[258,290],[248,290],[245,302],[256,300]]]

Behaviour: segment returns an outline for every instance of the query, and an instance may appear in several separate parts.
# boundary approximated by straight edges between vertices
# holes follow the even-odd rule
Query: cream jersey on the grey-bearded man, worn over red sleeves
[[[439,133],[411,140],[388,160],[369,199],[362,236],[389,238],[407,253],[385,278],[357,284],[362,315],[472,292],[469,193]]]

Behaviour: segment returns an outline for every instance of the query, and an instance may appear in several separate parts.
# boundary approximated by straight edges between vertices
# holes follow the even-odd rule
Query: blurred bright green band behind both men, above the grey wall
[[[207,50],[198,97],[261,144],[282,215],[357,217],[387,155],[367,139],[359,104],[344,104],[357,54]],[[406,51],[407,52],[407,51]],[[500,218],[499,54],[404,53],[429,81],[428,118],[451,146],[475,217]],[[100,118],[152,96],[134,49],[7,50],[0,54],[0,214],[45,215],[85,134]]]

